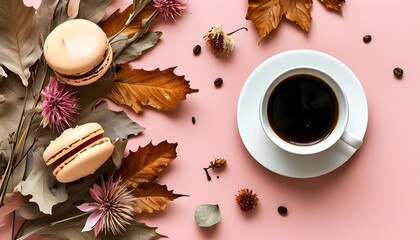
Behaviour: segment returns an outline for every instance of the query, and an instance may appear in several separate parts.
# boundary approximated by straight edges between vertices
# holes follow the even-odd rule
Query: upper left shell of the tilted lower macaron
[[[51,141],[42,157],[47,165],[51,165],[71,150],[103,132],[101,125],[94,122],[66,129],[58,138]]]

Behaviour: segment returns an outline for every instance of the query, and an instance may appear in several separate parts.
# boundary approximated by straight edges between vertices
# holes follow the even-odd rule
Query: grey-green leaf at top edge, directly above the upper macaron
[[[98,23],[104,16],[112,0],[84,0],[80,1],[79,13],[76,18],[83,18]]]

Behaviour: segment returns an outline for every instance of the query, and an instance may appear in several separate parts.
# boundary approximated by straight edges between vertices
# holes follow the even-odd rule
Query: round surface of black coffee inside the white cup
[[[321,142],[334,130],[339,115],[337,97],[322,79],[308,74],[281,81],[269,96],[271,128],[294,145]]]

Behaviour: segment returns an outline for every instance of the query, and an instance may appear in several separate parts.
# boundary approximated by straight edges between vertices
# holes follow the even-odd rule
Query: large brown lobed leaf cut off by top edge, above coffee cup
[[[339,10],[344,0],[320,0],[326,7]],[[303,30],[309,31],[312,0],[248,0],[246,19],[251,20],[260,36],[265,38],[280,24],[283,16]]]

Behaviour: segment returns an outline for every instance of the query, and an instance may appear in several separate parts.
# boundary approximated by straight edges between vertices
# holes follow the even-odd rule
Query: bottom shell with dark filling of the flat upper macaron
[[[55,74],[57,75],[58,78],[60,78],[63,82],[65,82],[68,85],[72,85],[72,86],[88,85],[93,82],[96,82],[103,75],[105,75],[106,71],[108,71],[109,67],[111,66],[112,57],[113,57],[113,53],[112,53],[111,45],[109,45],[103,61],[101,62],[100,66],[96,68],[97,71],[91,72],[87,76],[81,75],[79,77],[77,75],[73,75],[73,76],[63,75],[57,71],[55,71]]]

